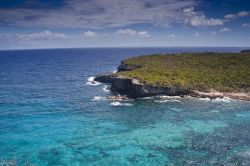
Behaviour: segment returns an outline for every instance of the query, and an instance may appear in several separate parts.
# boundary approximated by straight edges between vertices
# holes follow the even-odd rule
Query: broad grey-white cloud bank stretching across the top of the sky
[[[105,28],[137,23],[217,26],[223,22],[195,11],[198,0],[63,0],[57,8],[1,8],[0,23],[22,27]]]

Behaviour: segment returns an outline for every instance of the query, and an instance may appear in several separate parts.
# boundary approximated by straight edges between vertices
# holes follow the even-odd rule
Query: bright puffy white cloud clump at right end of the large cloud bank
[[[185,24],[193,27],[223,25],[223,20],[207,18],[204,14],[195,12],[193,7],[183,9],[183,13],[185,15]]]

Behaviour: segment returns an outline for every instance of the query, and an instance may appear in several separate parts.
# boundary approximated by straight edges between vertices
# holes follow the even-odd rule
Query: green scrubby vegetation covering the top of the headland
[[[141,67],[115,75],[143,83],[200,91],[250,92],[249,52],[145,55],[123,63]]]

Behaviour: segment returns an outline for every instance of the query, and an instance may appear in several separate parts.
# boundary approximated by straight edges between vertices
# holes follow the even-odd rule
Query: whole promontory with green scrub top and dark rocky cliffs
[[[143,55],[95,81],[131,98],[154,95],[250,100],[250,52]]]

